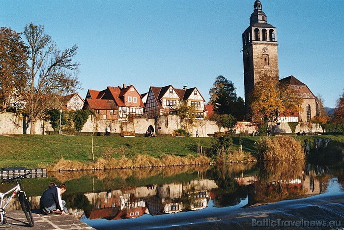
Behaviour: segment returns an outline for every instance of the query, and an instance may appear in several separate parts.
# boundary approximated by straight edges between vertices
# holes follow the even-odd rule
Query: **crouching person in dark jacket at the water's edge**
[[[62,216],[69,215],[65,207],[66,201],[61,199],[61,194],[67,190],[65,184],[60,184],[58,187],[54,182],[49,184],[49,188],[44,191],[39,202],[41,209],[45,214],[58,213]]]

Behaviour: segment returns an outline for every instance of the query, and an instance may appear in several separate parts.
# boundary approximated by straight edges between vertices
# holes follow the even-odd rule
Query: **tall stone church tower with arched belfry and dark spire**
[[[267,24],[259,0],[255,1],[250,26],[242,34],[244,58],[245,103],[250,104],[248,96],[259,81],[267,75],[278,79],[277,30]]]

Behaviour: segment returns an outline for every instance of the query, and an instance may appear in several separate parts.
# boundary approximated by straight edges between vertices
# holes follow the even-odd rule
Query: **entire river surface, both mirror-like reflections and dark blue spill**
[[[340,207],[325,205],[344,197],[343,165],[337,161],[65,172],[23,183],[32,208],[39,207],[50,181],[65,183],[62,197],[69,212],[96,229],[246,228],[252,226],[253,213],[293,220],[298,217],[295,207],[307,213],[312,205],[326,209],[328,214],[321,218],[343,221],[341,199],[331,201]],[[13,203],[13,209],[19,206]]]

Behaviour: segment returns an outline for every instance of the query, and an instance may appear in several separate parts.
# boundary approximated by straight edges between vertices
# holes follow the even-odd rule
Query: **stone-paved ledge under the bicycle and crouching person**
[[[27,229],[27,230],[67,230],[67,229],[87,229],[92,230],[85,223],[76,219],[75,217],[61,216],[58,214],[44,215],[41,214],[39,210],[32,210],[32,217],[34,221],[34,227],[30,228],[28,220],[22,210],[9,211],[6,212],[5,219],[7,224],[0,225],[0,230],[2,229]]]

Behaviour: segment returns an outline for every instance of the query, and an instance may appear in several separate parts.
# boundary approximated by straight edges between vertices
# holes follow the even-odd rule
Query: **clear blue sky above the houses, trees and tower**
[[[335,107],[344,90],[344,0],[261,0],[277,28],[280,78],[293,75]],[[209,99],[218,75],[244,98],[241,34],[254,0],[0,0],[0,26],[44,25],[75,61],[88,89],[133,84],[197,87]]]

